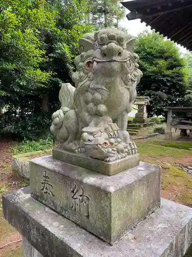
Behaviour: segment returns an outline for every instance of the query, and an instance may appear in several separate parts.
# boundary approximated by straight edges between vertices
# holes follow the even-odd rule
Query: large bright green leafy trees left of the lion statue
[[[0,0],[0,132],[34,139],[49,130],[61,82],[71,82],[83,1]],[[73,19],[72,19],[73,17]]]

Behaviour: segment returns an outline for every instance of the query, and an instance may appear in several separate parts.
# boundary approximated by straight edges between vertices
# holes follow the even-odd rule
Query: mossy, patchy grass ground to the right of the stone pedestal
[[[192,175],[175,167],[176,163],[192,166],[192,151],[185,150],[192,148],[192,141],[164,141],[164,137],[161,136],[137,142],[137,146],[143,161],[162,167],[162,196],[192,207]],[[185,257],[192,257],[192,246]]]

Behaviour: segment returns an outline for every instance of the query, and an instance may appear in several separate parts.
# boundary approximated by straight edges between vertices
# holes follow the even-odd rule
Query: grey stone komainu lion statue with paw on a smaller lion
[[[52,115],[51,132],[63,149],[104,161],[137,152],[126,131],[142,77],[134,45],[132,35],[112,28],[79,40],[75,87],[62,84],[61,107]]]

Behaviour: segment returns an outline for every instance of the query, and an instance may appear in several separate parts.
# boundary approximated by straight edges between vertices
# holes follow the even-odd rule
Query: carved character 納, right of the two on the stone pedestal
[[[76,185],[71,189],[72,193],[72,204],[71,208],[73,211],[78,212],[87,218],[89,218],[89,203],[90,198],[84,195],[84,190],[80,187],[80,190]]]

